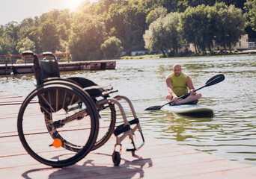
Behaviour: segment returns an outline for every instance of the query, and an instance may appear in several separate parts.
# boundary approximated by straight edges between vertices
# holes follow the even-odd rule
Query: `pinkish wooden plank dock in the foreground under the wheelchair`
[[[123,149],[120,166],[112,163],[113,136],[106,145],[91,151],[79,163],[53,169],[34,160],[19,142],[16,118],[22,101],[21,96],[0,92],[1,178],[256,178],[256,166],[215,157],[150,136],[145,136],[146,143],[135,151],[135,157]]]

